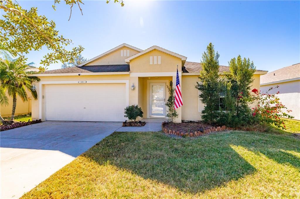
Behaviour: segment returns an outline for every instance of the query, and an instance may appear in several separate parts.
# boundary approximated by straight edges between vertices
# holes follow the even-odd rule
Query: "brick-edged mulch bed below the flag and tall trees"
[[[163,122],[161,127],[166,134],[187,136],[187,137],[197,137],[200,135],[209,134],[211,132],[224,131],[226,126],[216,126],[210,125],[202,122],[182,122],[182,123],[168,123]]]

